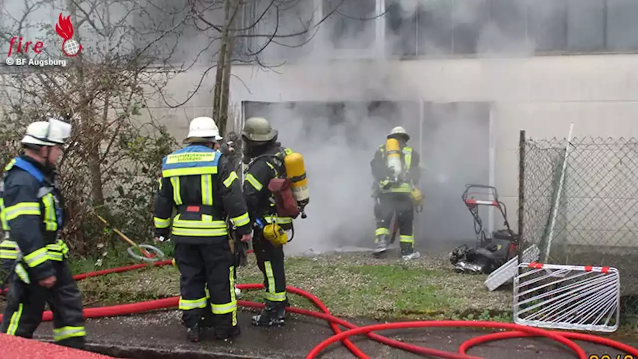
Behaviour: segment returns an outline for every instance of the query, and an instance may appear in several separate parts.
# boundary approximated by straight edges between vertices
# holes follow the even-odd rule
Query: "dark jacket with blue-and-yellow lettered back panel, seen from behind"
[[[155,235],[170,231],[176,243],[206,244],[227,236],[226,217],[237,233],[252,231],[237,172],[220,151],[200,144],[163,158],[153,216]]]

